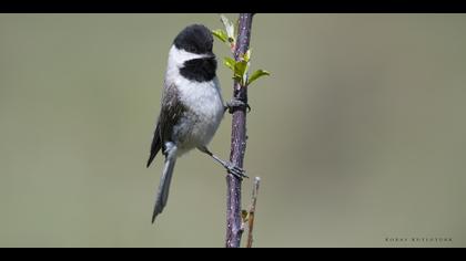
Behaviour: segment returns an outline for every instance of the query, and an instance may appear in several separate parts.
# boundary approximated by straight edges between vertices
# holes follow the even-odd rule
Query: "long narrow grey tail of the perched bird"
[[[163,167],[163,174],[160,178],[159,191],[155,198],[154,212],[152,215],[152,223],[155,221],[155,218],[159,213],[162,212],[163,208],[166,206],[170,192],[170,184],[172,181],[173,169],[176,163],[176,146],[170,145],[166,148],[165,153],[165,165]]]

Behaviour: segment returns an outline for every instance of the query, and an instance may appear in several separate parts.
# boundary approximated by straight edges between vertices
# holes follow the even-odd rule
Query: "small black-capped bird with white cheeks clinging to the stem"
[[[193,148],[210,155],[230,174],[246,177],[244,170],[207,149],[225,113],[212,48],[211,31],[193,24],[178,34],[170,49],[162,107],[148,160],[149,167],[160,149],[165,156],[152,223],[166,205],[176,158]]]

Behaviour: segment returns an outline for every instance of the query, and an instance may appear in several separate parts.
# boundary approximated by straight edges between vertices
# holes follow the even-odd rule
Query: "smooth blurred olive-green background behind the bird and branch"
[[[223,247],[224,171],[197,152],[150,222],[168,51],[194,22],[221,28],[216,14],[0,14],[0,247]],[[466,247],[465,25],[255,15],[252,67],[273,74],[250,88],[256,247]],[[211,144],[223,158],[230,133],[226,115]],[[453,241],[385,241],[404,237]]]

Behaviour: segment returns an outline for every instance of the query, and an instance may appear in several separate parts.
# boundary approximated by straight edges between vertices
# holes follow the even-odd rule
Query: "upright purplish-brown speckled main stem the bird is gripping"
[[[240,13],[237,28],[236,46],[234,58],[240,60],[250,48],[251,27],[253,13]],[[233,84],[233,97],[247,103],[247,87],[241,86],[235,81]],[[237,167],[243,167],[244,154],[246,152],[246,108],[236,107],[233,109],[232,140],[230,160]],[[243,230],[241,228],[241,180],[233,175],[226,176],[226,248],[239,248]]]

